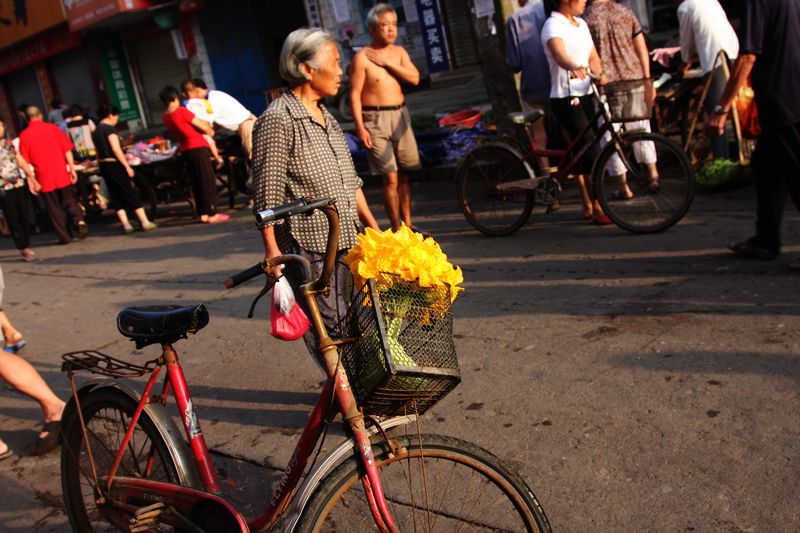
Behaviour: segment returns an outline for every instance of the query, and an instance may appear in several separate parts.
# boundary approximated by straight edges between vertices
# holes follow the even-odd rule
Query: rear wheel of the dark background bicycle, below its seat
[[[478,145],[456,170],[458,203],[467,222],[491,237],[517,231],[531,215],[534,195],[500,187],[533,177],[533,169],[514,148],[503,143]]]

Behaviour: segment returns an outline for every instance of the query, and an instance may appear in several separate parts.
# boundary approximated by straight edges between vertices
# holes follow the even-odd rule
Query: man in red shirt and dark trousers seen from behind
[[[78,203],[72,142],[58,126],[44,122],[38,107],[28,107],[25,114],[30,122],[19,136],[19,153],[33,167],[58,240],[68,244],[76,234],[83,239],[89,227]]]

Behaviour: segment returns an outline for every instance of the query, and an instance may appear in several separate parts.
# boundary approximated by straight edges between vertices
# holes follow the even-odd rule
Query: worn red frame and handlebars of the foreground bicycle
[[[229,519],[233,521],[231,522],[231,526],[235,523],[241,531],[263,531],[272,527],[283,516],[289,504],[292,503],[293,496],[296,494],[295,488],[328,423],[328,417],[333,412],[334,403],[336,403],[339,411],[342,413],[342,418],[346,423],[346,427],[349,428],[351,439],[341,445],[333,455],[337,459],[342,459],[346,457],[348,450],[352,450],[353,448],[358,450],[356,455],[360,457],[362,466],[366,472],[366,475],[362,477],[362,483],[375,523],[381,531],[397,531],[394,520],[387,507],[375,460],[372,455],[370,436],[377,431],[383,431],[382,427],[371,428],[370,431],[366,429],[364,417],[356,405],[347,379],[347,374],[339,361],[337,348],[339,342],[330,338],[316,302],[316,295],[328,290],[328,281],[333,272],[336,258],[335,252],[338,248],[339,241],[339,218],[335,207],[328,204],[319,209],[326,215],[329,224],[326,259],[320,277],[317,280],[310,281],[303,285],[302,293],[308,304],[313,327],[319,335],[320,342],[318,348],[322,355],[322,362],[328,379],[264,512],[260,516],[245,521],[230,503],[219,496],[221,492],[220,483],[203,432],[200,428],[200,423],[197,420],[189,387],[178,361],[178,354],[172,345],[165,344],[162,345],[162,356],[158,360],[157,366],[153,368],[150,374],[144,392],[139,399],[138,406],[131,418],[130,426],[127,428],[113,465],[104,480],[104,492],[100,491],[100,482],[98,482],[96,486],[98,505],[104,506],[105,512],[109,515],[109,519],[119,520],[121,521],[120,525],[124,524],[124,527],[130,527],[130,516],[134,515],[134,517],[136,517],[137,511],[147,509],[137,509],[134,506],[124,503],[123,500],[125,498],[131,497],[139,501],[159,502],[161,505],[159,508],[159,513],[161,513],[159,517],[164,523],[172,523],[173,525],[190,530],[193,527],[196,529],[196,526],[194,526],[187,517],[198,506],[205,506],[205,508],[212,506],[215,512],[225,513],[228,515]],[[285,255],[266,261],[263,264],[264,272],[271,273],[274,268],[289,262],[299,264],[306,274],[310,272],[308,260],[296,255]],[[306,275],[306,279],[309,279],[309,277],[310,276]],[[164,377],[164,385],[161,394],[154,395],[152,392],[161,373],[162,366],[166,366],[167,370]],[[72,383],[72,379],[70,379],[70,382]],[[200,473],[204,491],[181,485],[116,475],[145,406],[151,402],[158,402],[165,405],[170,391],[172,391],[180,411],[184,432],[189,442],[195,465]],[[80,423],[84,430],[84,442],[86,443],[89,461],[95,480],[98,481],[98,472],[96,472],[96,467],[92,458],[90,442],[86,434],[86,425],[80,410],[80,401],[74,384],[73,393],[76,399]],[[411,417],[402,417],[401,419],[397,419],[397,421],[393,419],[385,425],[390,427],[392,425],[405,423],[411,419]],[[352,442],[353,445],[350,445],[350,442]],[[329,460],[323,461],[323,465],[328,469],[336,464],[337,463]],[[149,468],[152,466],[153,459],[150,457],[145,474],[148,473]],[[326,473],[323,471],[321,474],[312,476],[312,474],[319,471],[320,469],[311,472],[301,489],[302,493],[299,494],[299,496],[302,501],[298,502],[299,505],[296,508],[297,516],[299,516],[299,513],[302,511],[302,505],[305,503],[305,500],[307,500],[313,492],[314,483],[318,483],[322,475]],[[102,477],[100,479],[102,479]],[[297,516],[294,517],[293,521],[290,520],[290,527],[293,527]],[[136,520],[136,518],[134,518],[134,520]]]

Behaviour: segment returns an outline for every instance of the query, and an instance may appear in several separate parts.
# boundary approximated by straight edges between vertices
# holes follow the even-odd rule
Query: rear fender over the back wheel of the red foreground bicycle
[[[127,385],[109,381],[105,378],[92,378],[82,383],[77,387],[78,397],[83,398],[93,391],[102,389],[112,390],[116,394],[127,396],[136,403],[139,403],[141,399],[141,395]],[[175,424],[166,408],[160,403],[148,403],[145,405],[144,410],[153,421],[161,438],[164,439],[164,442],[169,447],[170,455],[178,468],[178,477],[181,485],[202,490],[203,482],[181,428]],[[77,422],[78,411],[75,407],[75,397],[70,396],[67,405],[64,407],[62,418],[64,420],[72,420],[73,417]]]

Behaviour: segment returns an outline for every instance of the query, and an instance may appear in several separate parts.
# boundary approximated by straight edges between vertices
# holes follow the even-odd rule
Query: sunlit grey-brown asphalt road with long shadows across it
[[[367,189],[382,214],[379,190]],[[467,225],[451,182],[414,194],[416,222],[466,278],[454,311],[464,380],[424,417],[424,431],[506,460],[557,531],[800,530],[793,208],[786,257],[761,262],[724,248],[751,233],[750,188],[698,195],[658,235],[586,224],[567,201],[502,239]],[[262,253],[249,213],[203,226],[173,209],[152,233],[121,235],[106,219],[70,246],[39,236],[36,264],[4,239],[4,305],[30,341],[25,357],[65,397],[62,352],[155,357],[116,332],[120,308],[205,302],[210,324],[177,349],[206,439],[243,459],[223,462],[226,478],[244,476],[226,491],[253,509],[322,375],[301,344],[268,335],[266,302],[244,318],[256,284],[221,284]],[[0,435],[17,454],[0,462],[0,530],[67,531],[59,455],[30,456],[37,406],[4,386],[0,398]]]

